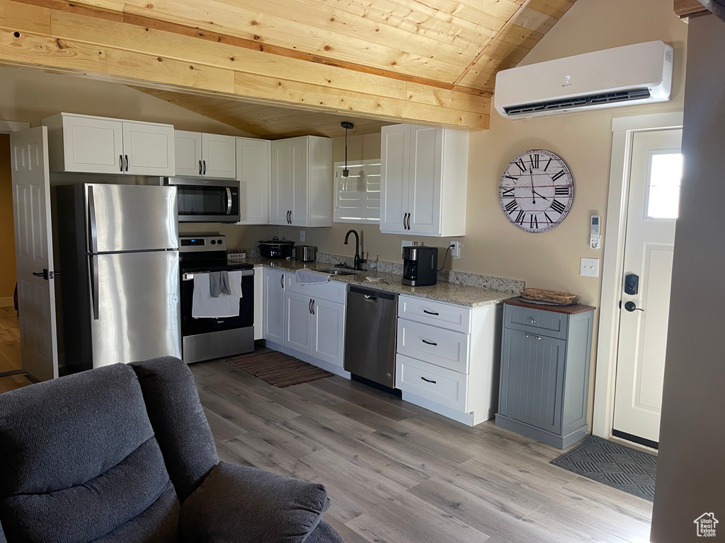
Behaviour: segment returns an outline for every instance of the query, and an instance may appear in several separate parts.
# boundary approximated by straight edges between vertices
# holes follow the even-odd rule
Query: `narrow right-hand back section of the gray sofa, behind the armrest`
[[[129,366],[138,376],[166,468],[183,502],[219,461],[194,376],[173,356]]]

